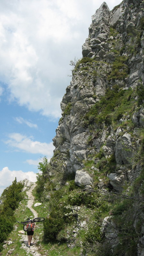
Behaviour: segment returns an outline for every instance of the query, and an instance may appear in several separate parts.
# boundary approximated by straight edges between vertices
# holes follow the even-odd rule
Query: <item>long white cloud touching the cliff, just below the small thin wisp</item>
[[[8,146],[12,148],[17,148],[24,152],[32,154],[42,154],[48,157],[52,157],[54,146],[52,142],[42,143],[39,141],[34,141],[31,137],[27,137],[20,133],[11,133],[9,134],[9,139],[4,141]]]

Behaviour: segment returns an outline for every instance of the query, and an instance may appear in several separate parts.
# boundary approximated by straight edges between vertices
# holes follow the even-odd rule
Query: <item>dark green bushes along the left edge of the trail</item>
[[[3,248],[3,242],[13,229],[14,210],[18,207],[22,199],[21,190],[23,184],[17,182],[16,178],[12,185],[4,189],[2,193],[2,204],[0,205],[0,251]]]

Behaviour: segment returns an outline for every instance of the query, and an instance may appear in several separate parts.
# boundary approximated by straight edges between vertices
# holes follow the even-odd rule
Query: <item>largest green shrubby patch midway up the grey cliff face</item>
[[[132,93],[131,89],[124,91],[118,85],[107,89],[105,96],[101,96],[100,101],[96,102],[84,116],[84,126],[101,126],[103,122],[110,125],[119,121],[125,113],[132,116],[135,104]]]

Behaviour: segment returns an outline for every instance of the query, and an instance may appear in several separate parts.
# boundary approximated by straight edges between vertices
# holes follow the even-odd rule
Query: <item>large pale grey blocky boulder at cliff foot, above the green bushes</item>
[[[75,176],[75,183],[79,187],[92,185],[92,177],[84,170],[77,170]]]

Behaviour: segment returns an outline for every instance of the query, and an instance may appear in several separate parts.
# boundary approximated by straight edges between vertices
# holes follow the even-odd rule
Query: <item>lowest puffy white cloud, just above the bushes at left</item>
[[[0,195],[6,187],[12,184],[15,177],[17,181],[28,179],[32,182],[36,182],[36,173],[34,172],[10,171],[8,167],[4,167],[2,171],[0,171]]]

